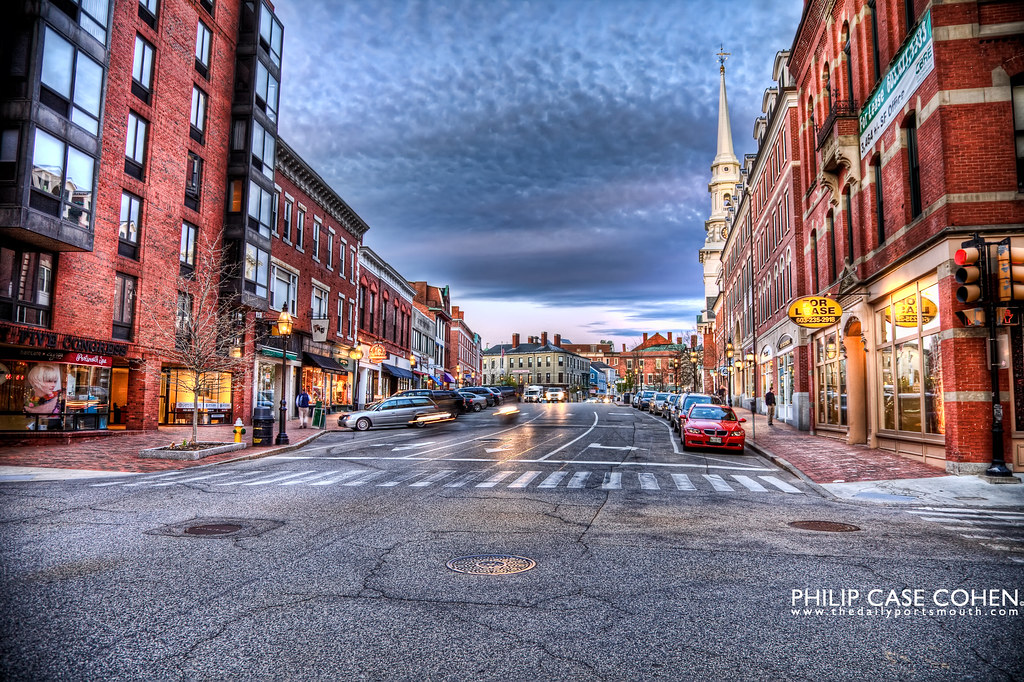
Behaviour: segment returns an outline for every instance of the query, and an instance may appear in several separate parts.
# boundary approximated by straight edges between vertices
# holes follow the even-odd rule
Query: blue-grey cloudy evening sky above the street
[[[691,330],[720,45],[737,157],[801,0],[278,0],[281,135],[486,346]]]

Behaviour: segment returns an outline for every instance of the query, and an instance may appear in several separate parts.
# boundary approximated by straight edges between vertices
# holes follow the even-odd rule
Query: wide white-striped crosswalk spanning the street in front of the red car
[[[711,492],[784,493],[802,495],[804,491],[777,476],[746,476],[740,474],[695,474],[678,472],[629,470],[571,470],[544,471],[541,469],[515,469],[492,467],[485,469],[437,469],[413,467],[401,470],[352,468],[332,471],[218,471],[215,473],[174,471],[144,474],[138,477],[91,483],[92,487],[169,487],[172,485],[200,484],[212,489],[258,488],[266,486],[324,487],[409,487],[424,488],[504,488],[509,491],[641,491],[641,492]]]

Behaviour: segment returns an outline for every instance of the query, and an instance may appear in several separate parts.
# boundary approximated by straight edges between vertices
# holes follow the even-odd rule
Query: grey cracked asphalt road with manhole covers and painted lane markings
[[[0,678],[1024,678],[1024,564],[955,510],[825,499],[621,406],[520,407],[0,485]],[[499,572],[449,567],[481,555],[453,566]]]

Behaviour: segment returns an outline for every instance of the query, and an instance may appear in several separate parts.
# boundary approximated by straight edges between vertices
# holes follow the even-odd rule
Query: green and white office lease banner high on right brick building
[[[935,70],[932,12],[925,12],[913,37],[892,61],[892,68],[860,112],[860,158],[866,157],[882,133],[910,101],[925,78]]]

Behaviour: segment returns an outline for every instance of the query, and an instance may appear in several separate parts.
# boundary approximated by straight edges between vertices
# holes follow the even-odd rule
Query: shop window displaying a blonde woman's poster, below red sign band
[[[105,429],[111,370],[60,361],[0,361],[0,430]]]

